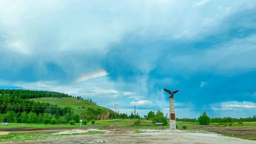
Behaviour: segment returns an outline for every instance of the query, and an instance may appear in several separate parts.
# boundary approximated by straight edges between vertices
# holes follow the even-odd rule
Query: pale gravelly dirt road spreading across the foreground
[[[243,140],[239,138],[224,137],[218,134],[205,133],[175,133],[175,132],[157,132],[157,133],[140,133],[134,134],[131,129],[113,129],[112,133],[97,134],[97,135],[74,135],[62,138],[45,139],[38,141],[25,142],[2,142],[4,143],[18,143],[18,144],[35,144],[35,143],[63,143],[63,144],[79,144],[83,143],[97,143],[97,141],[104,140],[106,143],[192,143],[192,144],[256,144],[256,141]]]

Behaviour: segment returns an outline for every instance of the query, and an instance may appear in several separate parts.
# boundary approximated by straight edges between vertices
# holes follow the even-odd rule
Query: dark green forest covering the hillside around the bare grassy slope
[[[98,119],[98,115],[104,111],[106,115],[107,109],[101,110],[93,109],[87,106],[84,111],[86,113],[78,114],[71,110],[69,105],[58,106],[48,102],[34,101],[29,98],[43,98],[52,97],[62,99],[62,97],[69,97],[70,99],[77,99],[91,103],[90,105],[97,106],[91,99],[81,100],[81,97],[72,97],[71,95],[50,92],[50,91],[35,91],[22,89],[0,89],[0,122],[18,122],[18,123],[68,123],[70,120],[79,122],[79,119]],[[63,99],[65,99],[63,98]],[[109,110],[109,109],[108,109]],[[109,110],[110,111],[110,110]],[[105,116],[106,118],[106,116]]]

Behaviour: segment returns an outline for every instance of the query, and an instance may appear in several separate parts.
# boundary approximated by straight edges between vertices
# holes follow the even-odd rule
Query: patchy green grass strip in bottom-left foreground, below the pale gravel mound
[[[7,135],[0,135],[0,142],[6,141],[26,141],[26,140],[39,140],[47,138],[64,137],[68,135],[81,135],[81,134],[104,134],[105,131],[89,131],[87,133],[76,133],[76,134],[33,134],[33,133],[10,133]],[[14,139],[14,137],[16,137]]]

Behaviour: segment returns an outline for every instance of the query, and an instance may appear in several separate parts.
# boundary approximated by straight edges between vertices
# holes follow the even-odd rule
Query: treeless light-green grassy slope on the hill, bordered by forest
[[[87,108],[93,108],[93,109],[102,109],[102,114],[107,114],[110,112],[110,109],[107,109],[105,107],[98,106],[92,102],[83,100],[83,99],[76,99],[76,98],[53,98],[53,97],[43,97],[43,98],[31,98],[31,100],[39,101],[39,102],[48,102],[50,104],[57,104],[60,107],[70,106],[71,110],[74,111],[74,113],[85,115],[87,112]],[[82,106],[85,106],[85,109],[82,109]],[[80,107],[80,108],[78,108]]]

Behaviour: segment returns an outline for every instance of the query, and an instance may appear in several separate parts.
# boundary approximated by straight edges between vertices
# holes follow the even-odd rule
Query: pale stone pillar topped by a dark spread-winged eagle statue
[[[165,90],[168,94],[170,94],[170,96],[169,96],[169,99],[170,99],[170,124],[169,124],[169,126],[170,126],[171,130],[176,130],[174,94],[177,93],[179,90],[170,91],[170,90],[167,90],[165,87],[163,87],[163,90]]]

